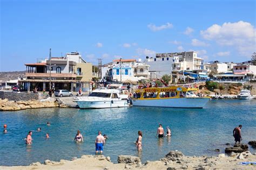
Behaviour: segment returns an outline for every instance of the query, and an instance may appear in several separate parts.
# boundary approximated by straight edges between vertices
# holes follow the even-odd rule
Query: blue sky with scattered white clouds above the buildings
[[[205,61],[250,60],[255,1],[1,1],[0,72],[80,52],[87,62],[197,51]]]

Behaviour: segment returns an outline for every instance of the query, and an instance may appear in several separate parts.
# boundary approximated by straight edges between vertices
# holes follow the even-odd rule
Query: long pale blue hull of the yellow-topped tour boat
[[[208,97],[137,99],[132,101],[132,105],[160,108],[204,108],[208,101],[210,101]]]

